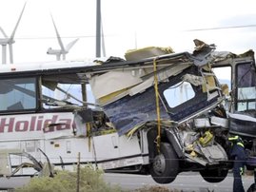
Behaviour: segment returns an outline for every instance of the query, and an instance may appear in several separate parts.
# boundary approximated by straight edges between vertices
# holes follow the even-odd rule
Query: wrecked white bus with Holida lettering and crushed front
[[[233,101],[211,68],[231,65],[230,57],[195,44],[193,53],[143,48],[126,60],[1,66],[0,175],[52,175],[53,166],[73,168],[79,153],[82,164],[150,174],[158,183],[184,171],[222,182],[230,168],[226,137],[234,131],[226,104],[255,113],[254,55],[245,57],[254,84],[232,86]],[[241,98],[239,91],[250,90],[254,96]]]

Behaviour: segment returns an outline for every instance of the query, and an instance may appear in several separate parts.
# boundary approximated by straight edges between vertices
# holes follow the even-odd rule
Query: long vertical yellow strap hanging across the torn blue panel
[[[156,115],[157,115],[157,150],[160,152],[160,143],[161,143],[161,125],[160,125],[160,107],[159,107],[159,92],[158,92],[158,78],[156,70],[156,58],[153,61],[154,65],[154,89],[155,89],[155,104],[156,104]]]

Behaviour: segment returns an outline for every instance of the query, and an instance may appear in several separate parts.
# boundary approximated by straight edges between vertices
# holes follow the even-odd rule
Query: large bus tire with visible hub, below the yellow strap
[[[170,144],[160,145],[160,154],[154,157],[150,164],[150,174],[155,182],[173,182],[179,173],[179,160]]]

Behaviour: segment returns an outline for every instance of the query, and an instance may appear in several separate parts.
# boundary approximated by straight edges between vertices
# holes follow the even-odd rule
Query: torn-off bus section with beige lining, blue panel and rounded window
[[[169,49],[164,48],[129,51],[126,56],[132,58],[132,61],[113,64],[111,68],[116,69],[111,71],[89,74],[92,92],[119,134],[125,134],[133,127],[157,119],[154,74],[157,74],[158,79],[157,91],[163,120],[182,123],[222,101],[220,86],[216,85],[213,75],[209,72],[209,64],[215,59],[211,55],[215,47],[199,40],[195,40],[195,43],[197,47],[193,54],[169,53]],[[141,59],[140,53],[148,55],[149,58]],[[135,60],[133,55],[140,60]],[[156,71],[153,69],[154,62]],[[108,64],[104,65],[108,68]],[[197,67],[200,70],[197,70]],[[179,90],[176,86],[179,86]],[[200,86],[204,89],[202,93]],[[184,98],[178,96],[182,91],[186,91]],[[177,106],[177,100],[187,103]]]

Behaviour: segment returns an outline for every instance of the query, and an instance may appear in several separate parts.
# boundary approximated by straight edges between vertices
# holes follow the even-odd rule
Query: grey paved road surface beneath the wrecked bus
[[[109,182],[110,184],[118,184],[119,186],[121,186],[122,189],[128,191],[143,188],[145,186],[162,185],[169,189],[183,190],[184,192],[231,192],[233,184],[233,178],[231,174],[228,174],[223,182],[209,183],[205,182],[199,174],[193,172],[181,173],[178,175],[174,182],[171,182],[169,184],[158,184],[154,182],[150,176],[130,174],[106,173],[104,174],[104,179],[106,182]],[[3,189],[5,187],[19,187],[25,183],[28,183],[29,181],[29,178],[0,178],[0,189]],[[243,176],[243,182],[244,187],[247,190],[247,188],[253,182],[253,176]]]

